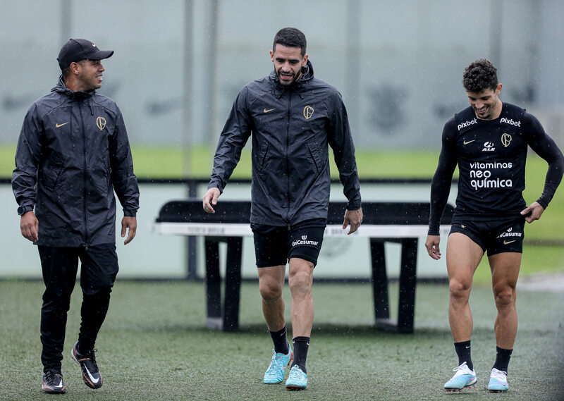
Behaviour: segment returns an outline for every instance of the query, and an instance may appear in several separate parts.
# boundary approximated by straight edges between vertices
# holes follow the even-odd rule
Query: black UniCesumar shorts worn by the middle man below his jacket
[[[257,267],[286,265],[290,258],[305,259],[315,266],[325,226],[324,218],[283,227],[251,223]]]

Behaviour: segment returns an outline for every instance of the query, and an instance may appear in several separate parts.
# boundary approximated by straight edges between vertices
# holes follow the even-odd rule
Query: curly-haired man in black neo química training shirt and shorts
[[[448,319],[459,366],[444,387],[460,392],[477,381],[470,357],[472,314],[468,298],[474,271],[488,252],[498,315],[496,362],[488,390],[508,390],[507,371],[517,334],[515,285],[521,264],[523,228],[551,201],[563,175],[564,157],[541,123],[520,107],[502,103],[497,70],[484,58],[464,70],[462,84],[470,107],[455,114],[443,129],[439,166],[431,183],[429,256],[439,259],[439,224],[448,199],[453,172],[460,177],[456,209],[448,236],[446,266],[450,286]],[[525,189],[527,146],[548,162],[544,191],[529,206]]]

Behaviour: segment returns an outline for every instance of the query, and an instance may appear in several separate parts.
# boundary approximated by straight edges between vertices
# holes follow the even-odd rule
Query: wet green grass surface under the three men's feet
[[[78,287],[78,285],[77,285]],[[0,400],[46,400],[41,393],[39,310],[43,284],[0,281]],[[391,287],[396,314],[397,287]],[[286,300],[289,295],[286,290]],[[520,329],[510,364],[510,391],[485,388],[495,357],[491,290],[475,287],[472,350],[478,387],[442,390],[457,364],[446,316],[446,285],[418,285],[415,333],[372,328],[368,284],[314,285],[316,316],[306,391],[263,385],[271,340],[257,283],[244,283],[239,333],[204,328],[202,283],[118,282],[97,341],[104,385],[90,390],[69,352],[79,326],[80,290],[67,324],[65,400],[562,400],[564,294],[520,291]]]

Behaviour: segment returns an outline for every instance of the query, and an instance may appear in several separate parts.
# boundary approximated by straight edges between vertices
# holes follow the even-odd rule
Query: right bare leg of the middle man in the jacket
[[[314,266],[310,261],[291,258],[288,283],[292,293],[292,337],[310,337],[313,325],[313,282]]]

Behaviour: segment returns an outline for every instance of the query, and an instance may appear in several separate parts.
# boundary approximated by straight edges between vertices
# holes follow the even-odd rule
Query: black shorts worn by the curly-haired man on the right
[[[476,242],[488,256],[502,252],[523,253],[525,218],[516,220],[468,221],[450,223],[450,234],[462,233]]]

